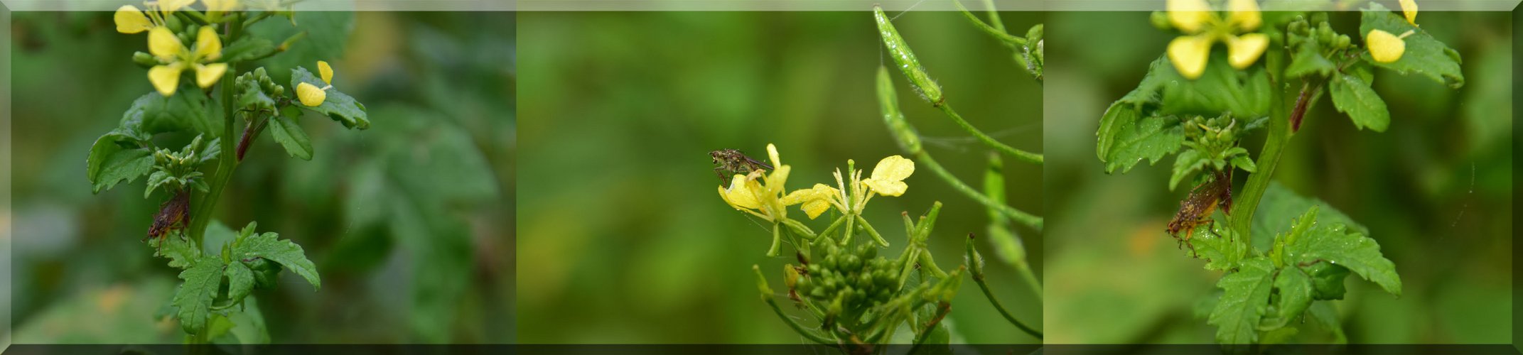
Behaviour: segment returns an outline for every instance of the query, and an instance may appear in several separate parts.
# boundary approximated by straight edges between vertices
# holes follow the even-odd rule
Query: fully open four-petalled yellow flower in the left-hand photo
[[[187,50],[168,27],[149,29],[148,52],[164,62],[148,70],[148,81],[163,96],[175,94],[180,73],[186,69],[195,70],[195,82],[201,88],[212,87],[227,72],[227,62],[210,62],[222,58],[222,40],[212,26],[204,26],[196,34],[195,50]]]

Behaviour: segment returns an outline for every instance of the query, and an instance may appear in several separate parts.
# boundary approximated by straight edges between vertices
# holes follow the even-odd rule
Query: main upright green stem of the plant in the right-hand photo
[[[1275,49],[1264,53],[1264,66],[1270,73],[1269,90],[1269,137],[1264,140],[1264,149],[1258,154],[1256,172],[1247,177],[1247,183],[1243,184],[1243,192],[1238,193],[1238,207],[1234,209],[1231,216],[1232,232],[1240,236],[1240,242],[1249,242],[1253,239],[1253,212],[1258,210],[1258,201],[1264,198],[1264,190],[1269,189],[1269,181],[1275,175],[1275,166],[1279,165],[1279,155],[1284,152],[1285,142],[1290,140],[1290,117],[1285,107],[1285,82],[1284,82],[1284,50]],[[1302,88],[1305,90],[1305,88]]]

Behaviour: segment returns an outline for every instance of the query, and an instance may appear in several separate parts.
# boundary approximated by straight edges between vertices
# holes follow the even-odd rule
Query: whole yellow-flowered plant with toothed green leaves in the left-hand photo
[[[160,314],[178,320],[187,343],[218,340],[235,326],[256,326],[254,332],[263,334],[253,291],[276,288],[283,270],[314,289],[321,286],[302,245],[273,232],[259,233],[253,221],[233,232],[210,218],[250,143],[270,131],[286,154],[311,160],[312,143],[297,123],[309,117],[306,113],[346,128],[370,125],[366,107],[334,88],[334,69],[323,58],[303,58],[315,64],[317,75],[295,67],[289,87],[274,82],[263,67],[248,69],[306,37],[260,38],[247,30],[280,17],[295,24],[292,2],[200,3],[158,0],[116,11],[117,32],[146,34],[148,52],[131,59],[146,69],[149,90],[126,108],[120,126],[94,142],[85,171],[96,193],[145,175],[143,197],[161,192],[146,244],[154,256],[181,270],[183,282]],[[241,134],[235,131],[239,123]],[[195,137],[180,149],[161,146],[184,136]]]

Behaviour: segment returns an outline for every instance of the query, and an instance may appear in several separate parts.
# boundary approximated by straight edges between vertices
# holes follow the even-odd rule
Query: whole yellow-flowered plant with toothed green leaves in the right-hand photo
[[[1202,314],[1229,350],[1295,341],[1313,326],[1346,341],[1331,302],[1343,299],[1351,273],[1401,296],[1395,264],[1369,229],[1272,183],[1284,146],[1322,96],[1355,128],[1390,125],[1371,87],[1377,67],[1464,85],[1458,52],[1416,24],[1413,0],[1401,0],[1401,15],[1369,2],[1354,35],[1334,30],[1320,11],[1359,3],[1260,12],[1253,0],[1170,0],[1151,23],[1180,35],[1100,120],[1095,152],[1106,172],[1177,154],[1168,187],[1196,186],[1167,230],[1189,247],[1185,254],[1224,273],[1220,297],[1203,300]],[[1240,143],[1256,131],[1267,133],[1252,157]],[[1249,174],[1235,190],[1234,171]]]

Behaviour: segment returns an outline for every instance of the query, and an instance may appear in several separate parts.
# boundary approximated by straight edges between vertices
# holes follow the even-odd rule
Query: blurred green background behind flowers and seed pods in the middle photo
[[[892,14],[889,14],[892,15]],[[835,184],[902,154],[874,93],[888,61],[860,12],[528,12],[519,14],[524,125],[518,200],[518,340],[522,343],[806,343],[757,299],[752,264],[774,289],[792,257],[766,257],[771,233],[716,193],[708,151],[766,160],[775,143],[789,189]],[[1037,14],[1005,14],[1011,29]],[[949,102],[1016,148],[1042,151],[1042,87],[1011,53],[956,12],[896,20]],[[894,73],[911,123],[953,174],[978,184],[987,151],[915,98]],[[1005,162],[1008,200],[1042,210],[1042,169]],[[920,169],[899,198],[874,198],[867,218],[897,253],[900,212],[943,201],[932,251],[961,262],[987,215]],[[797,207],[790,207],[797,212]],[[1040,215],[1040,213],[1039,213]],[[822,230],[829,221],[809,221]],[[1040,274],[1042,238],[1025,238]],[[988,244],[979,247],[988,254]],[[995,293],[1023,321],[1042,308],[1013,267],[990,262]],[[777,294],[777,297],[786,297]],[[787,305],[787,300],[781,300]],[[801,315],[801,314],[800,314]],[[1001,318],[973,282],[949,315],[953,343],[1036,343]]]

